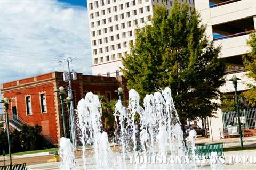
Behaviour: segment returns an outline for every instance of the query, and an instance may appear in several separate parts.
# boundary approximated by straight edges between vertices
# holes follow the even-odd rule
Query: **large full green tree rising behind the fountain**
[[[212,116],[220,107],[213,99],[218,99],[218,88],[225,83],[225,66],[218,59],[221,48],[208,40],[206,25],[200,22],[187,4],[175,1],[170,15],[156,5],[152,24],[137,29],[131,54],[123,58],[128,88],[143,98],[170,87],[181,121]]]

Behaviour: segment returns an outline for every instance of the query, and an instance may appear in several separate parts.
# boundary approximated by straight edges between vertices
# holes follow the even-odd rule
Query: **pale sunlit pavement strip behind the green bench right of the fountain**
[[[225,138],[225,139],[210,139],[205,137],[198,137],[196,139],[197,144],[213,144],[223,143],[224,148],[235,148],[240,146],[240,138]],[[243,137],[244,147],[256,147],[256,136]]]

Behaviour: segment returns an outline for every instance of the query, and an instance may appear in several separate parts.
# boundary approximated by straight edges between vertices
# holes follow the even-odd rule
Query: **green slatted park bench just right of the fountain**
[[[196,156],[205,156],[210,158],[211,152],[217,152],[218,156],[223,156],[223,143],[213,143],[213,144],[197,144],[195,154]]]

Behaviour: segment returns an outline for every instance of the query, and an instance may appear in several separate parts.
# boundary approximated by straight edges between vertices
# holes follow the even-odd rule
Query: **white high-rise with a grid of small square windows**
[[[180,2],[187,2],[190,10],[194,8],[193,0]],[[156,3],[165,5],[170,12],[174,0],[87,0],[93,75],[122,74],[121,56],[130,53],[135,29],[150,24]]]

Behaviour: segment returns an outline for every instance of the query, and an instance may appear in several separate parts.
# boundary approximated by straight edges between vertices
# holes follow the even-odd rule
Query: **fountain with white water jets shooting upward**
[[[196,132],[190,131],[186,146],[170,88],[146,95],[143,99],[143,107],[140,106],[139,94],[134,89],[129,91],[127,108],[123,106],[121,100],[117,101],[113,114],[117,124],[118,132],[115,135],[120,152],[111,150],[108,135],[102,130],[102,110],[98,96],[92,92],[87,93],[85,98],[79,101],[77,108],[83,169],[197,168],[194,159]],[[61,138],[60,151],[62,151],[63,165],[61,164],[60,169],[78,168],[70,146],[70,140]],[[93,156],[90,158],[86,157],[87,146],[93,148]],[[150,164],[146,159],[150,157],[150,161],[156,164],[159,158],[170,156],[172,159],[168,159],[169,163],[174,161],[175,156],[179,157],[177,159],[181,163],[159,167]],[[139,165],[136,161],[133,163],[137,158],[143,158],[147,162],[140,162]],[[194,164],[184,163],[189,160],[193,160]]]

